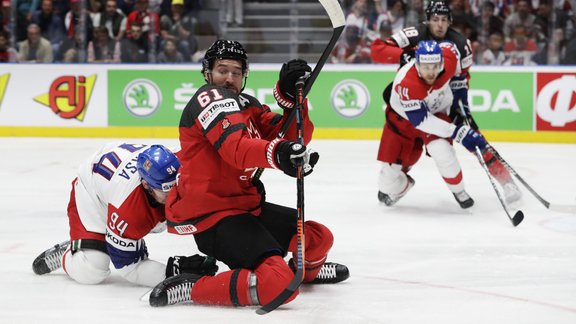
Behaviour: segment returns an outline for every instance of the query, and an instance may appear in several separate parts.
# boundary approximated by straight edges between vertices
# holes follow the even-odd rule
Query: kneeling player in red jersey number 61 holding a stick
[[[297,212],[267,202],[262,183],[252,175],[256,168],[274,168],[295,177],[300,161],[305,174],[312,172],[318,154],[293,142],[295,125],[289,127],[286,139],[276,138],[294,107],[296,81],[310,71],[303,60],[282,66],[274,97],[284,114],[277,114],[242,92],[248,60],[240,43],[217,40],[206,51],[201,71],[206,84],[192,97],[180,120],[182,167],[166,203],[166,217],[169,232],[193,235],[201,252],[230,270],[216,276],[166,279],[153,289],[152,306],[184,301],[261,305],[288,286],[293,271],[284,256],[296,249]],[[303,119],[307,144],[314,126],[306,103]],[[325,263],[333,244],[330,230],[314,221],[304,226],[304,283],[345,280],[345,266]]]

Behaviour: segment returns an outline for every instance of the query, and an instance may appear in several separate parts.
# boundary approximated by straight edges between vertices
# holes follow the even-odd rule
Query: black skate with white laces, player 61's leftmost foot
[[[157,284],[150,293],[150,306],[162,307],[192,301],[192,286],[202,278],[193,273],[182,273]]]

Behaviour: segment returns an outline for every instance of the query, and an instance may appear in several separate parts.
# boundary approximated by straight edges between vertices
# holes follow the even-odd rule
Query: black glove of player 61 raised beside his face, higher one
[[[274,88],[274,99],[282,108],[294,108],[296,102],[296,81],[312,68],[301,59],[291,60],[282,65],[280,76]]]

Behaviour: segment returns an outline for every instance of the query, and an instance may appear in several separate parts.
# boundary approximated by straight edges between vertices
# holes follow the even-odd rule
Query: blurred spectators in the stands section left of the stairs
[[[191,62],[201,6],[201,0],[2,0],[0,62]]]

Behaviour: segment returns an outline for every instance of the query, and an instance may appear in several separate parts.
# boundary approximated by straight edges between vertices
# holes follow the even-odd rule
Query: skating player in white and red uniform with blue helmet
[[[486,146],[484,138],[466,125],[454,125],[448,116],[452,105],[450,79],[457,73],[458,54],[451,43],[418,43],[416,59],[398,71],[386,108],[379,160],[378,198],[395,204],[414,186],[407,173],[422,155],[423,146],[462,208],[474,201],[464,190],[462,170],[452,139],[473,151]]]

